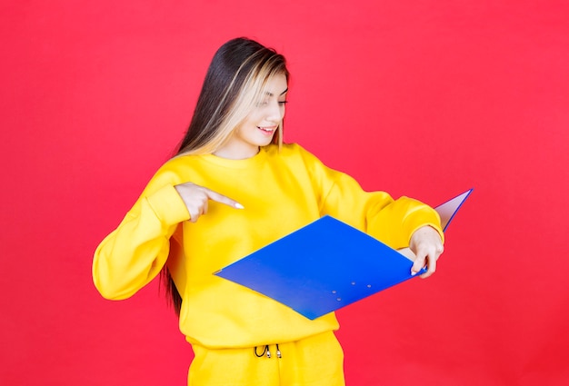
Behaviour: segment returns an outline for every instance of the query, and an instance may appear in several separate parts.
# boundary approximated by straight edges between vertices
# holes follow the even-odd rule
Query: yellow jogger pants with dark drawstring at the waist
[[[249,349],[194,344],[189,386],[344,386],[344,351],[334,332]],[[258,357],[257,355],[260,355]]]

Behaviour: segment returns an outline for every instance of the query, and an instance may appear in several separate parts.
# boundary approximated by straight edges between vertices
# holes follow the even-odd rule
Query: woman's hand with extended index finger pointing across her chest
[[[207,203],[213,200],[217,203],[225,203],[232,208],[244,209],[241,203],[226,197],[223,194],[214,192],[204,186],[196,185],[195,183],[180,183],[175,185],[175,190],[185,203],[185,206],[190,213],[190,221],[195,223],[197,219],[207,213]]]

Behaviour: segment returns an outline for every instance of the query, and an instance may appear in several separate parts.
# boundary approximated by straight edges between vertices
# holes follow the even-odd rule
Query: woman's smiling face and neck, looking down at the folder
[[[286,76],[276,75],[267,84],[267,92],[254,110],[215,154],[224,158],[244,159],[258,153],[259,146],[270,144],[276,129],[283,122],[287,91]]]

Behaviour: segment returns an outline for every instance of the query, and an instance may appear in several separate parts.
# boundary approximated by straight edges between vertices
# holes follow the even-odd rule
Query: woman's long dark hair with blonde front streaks
[[[279,74],[284,74],[288,81],[284,56],[275,50],[246,38],[222,45],[205,74],[194,116],[175,156],[214,153],[223,146],[265,95],[267,84]],[[273,144],[282,143],[283,127],[279,124]],[[161,279],[166,296],[179,316],[182,296],[167,265]]]

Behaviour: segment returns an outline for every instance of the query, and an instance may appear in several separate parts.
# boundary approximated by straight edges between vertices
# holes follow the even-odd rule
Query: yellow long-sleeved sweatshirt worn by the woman
[[[174,186],[196,183],[225,194],[245,209],[210,201],[196,223]],[[98,246],[95,286],[107,299],[132,296],[168,264],[182,295],[180,330],[209,348],[239,348],[298,341],[335,330],[334,313],[310,321],[279,302],[213,272],[329,214],[394,248],[432,225],[433,209],[412,199],[366,193],[345,173],[324,166],[297,144],[261,149],[229,160],[176,157],[162,166],[118,228]],[[170,249],[170,258],[168,254]]]

